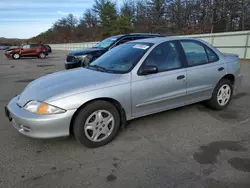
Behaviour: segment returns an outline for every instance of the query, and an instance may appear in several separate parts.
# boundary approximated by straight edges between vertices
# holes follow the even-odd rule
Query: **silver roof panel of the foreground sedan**
[[[139,39],[130,42],[145,42],[145,43],[152,43],[152,44],[160,44],[162,42],[173,41],[173,40],[195,40],[201,41],[197,38],[186,38],[186,37],[156,37],[156,38],[147,38],[147,39]]]

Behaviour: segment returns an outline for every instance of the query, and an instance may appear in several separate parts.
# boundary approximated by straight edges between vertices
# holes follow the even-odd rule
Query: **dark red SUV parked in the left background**
[[[20,59],[21,57],[46,58],[48,50],[43,44],[23,44],[17,48],[11,48],[5,51],[6,57]]]

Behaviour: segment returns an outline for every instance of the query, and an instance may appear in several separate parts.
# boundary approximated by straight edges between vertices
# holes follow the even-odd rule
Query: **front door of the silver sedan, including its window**
[[[185,104],[186,68],[177,42],[156,46],[140,66],[153,65],[158,73],[132,73],[132,116],[139,117]]]

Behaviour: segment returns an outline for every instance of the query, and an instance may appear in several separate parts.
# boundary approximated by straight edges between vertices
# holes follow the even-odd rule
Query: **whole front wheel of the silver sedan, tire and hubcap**
[[[107,101],[94,101],[76,115],[73,133],[78,141],[89,148],[111,142],[120,127],[120,115],[114,105]]]

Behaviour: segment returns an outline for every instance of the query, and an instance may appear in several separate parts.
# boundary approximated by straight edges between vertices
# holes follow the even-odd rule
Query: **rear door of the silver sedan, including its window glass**
[[[218,81],[225,75],[225,63],[207,45],[196,40],[181,40],[187,62],[186,104],[211,98]]]

